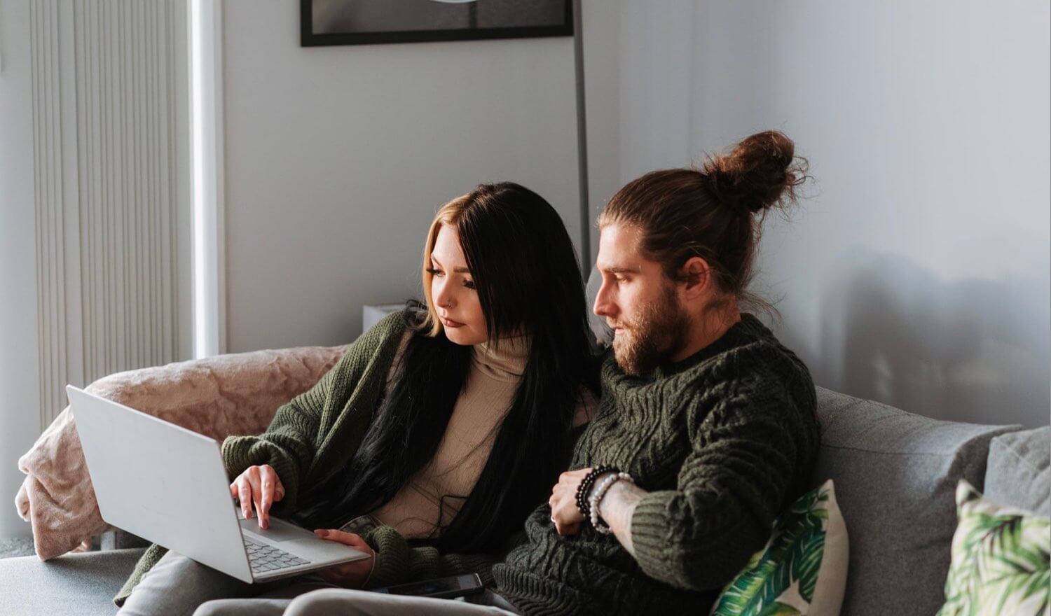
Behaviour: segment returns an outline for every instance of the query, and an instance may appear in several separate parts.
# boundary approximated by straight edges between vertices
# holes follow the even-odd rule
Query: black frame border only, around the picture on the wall
[[[300,0],[300,45],[376,45],[387,43],[426,43],[434,41],[478,41],[489,39],[524,39],[573,36],[573,0],[565,5],[561,24],[530,27],[488,27],[462,29],[316,34],[313,31],[313,0]]]

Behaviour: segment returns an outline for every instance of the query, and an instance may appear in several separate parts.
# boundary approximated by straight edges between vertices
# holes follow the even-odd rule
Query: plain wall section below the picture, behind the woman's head
[[[510,179],[580,233],[569,37],[300,47],[295,2],[225,3],[231,353],[341,344],[419,295],[434,212]]]

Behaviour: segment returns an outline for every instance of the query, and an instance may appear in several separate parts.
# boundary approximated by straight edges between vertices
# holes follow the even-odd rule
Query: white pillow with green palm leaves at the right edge
[[[939,616],[1051,613],[1051,519],[997,505],[956,485],[952,565]]]

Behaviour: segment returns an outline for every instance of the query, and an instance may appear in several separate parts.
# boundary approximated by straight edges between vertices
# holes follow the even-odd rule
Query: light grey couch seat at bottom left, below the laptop
[[[114,595],[135,569],[143,550],[0,559],[0,614],[112,616]]]

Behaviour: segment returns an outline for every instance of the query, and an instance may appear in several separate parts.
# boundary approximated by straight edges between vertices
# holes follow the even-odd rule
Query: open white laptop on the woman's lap
[[[270,517],[245,519],[219,443],[66,385],[102,519],[252,583],[362,558],[364,552]]]

